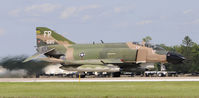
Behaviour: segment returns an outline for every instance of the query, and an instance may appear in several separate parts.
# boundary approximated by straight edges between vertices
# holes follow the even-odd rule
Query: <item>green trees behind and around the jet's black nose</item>
[[[182,73],[199,72],[199,45],[185,36],[181,45],[166,46],[161,44],[167,51],[174,51],[182,54],[186,60],[181,64],[166,64],[167,70]]]

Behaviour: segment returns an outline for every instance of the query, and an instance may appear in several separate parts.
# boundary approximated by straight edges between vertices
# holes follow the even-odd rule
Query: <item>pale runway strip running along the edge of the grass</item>
[[[0,78],[0,82],[169,82],[197,81],[199,77],[130,77],[130,78]]]

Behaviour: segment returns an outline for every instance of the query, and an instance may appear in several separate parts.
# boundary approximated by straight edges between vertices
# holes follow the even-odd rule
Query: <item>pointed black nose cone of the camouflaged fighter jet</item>
[[[167,61],[169,63],[177,64],[182,63],[186,58],[178,53],[175,52],[168,52],[167,53]]]

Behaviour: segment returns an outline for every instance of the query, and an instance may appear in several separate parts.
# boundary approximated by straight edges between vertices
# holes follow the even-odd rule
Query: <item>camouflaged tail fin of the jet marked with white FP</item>
[[[38,47],[56,44],[75,44],[74,42],[46,27],[37,27],[36,33]]]

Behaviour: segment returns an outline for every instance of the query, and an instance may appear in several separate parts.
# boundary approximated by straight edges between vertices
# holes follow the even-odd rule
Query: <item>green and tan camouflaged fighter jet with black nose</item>
[[[185,58],[149,43],[76,44],[46,27],[37,27],[37,53],[34,58],[59,63],[61,69],[78,72],[141,71],[154,63],[180,63]],[[40,57],[45,55],[46,57]]]

